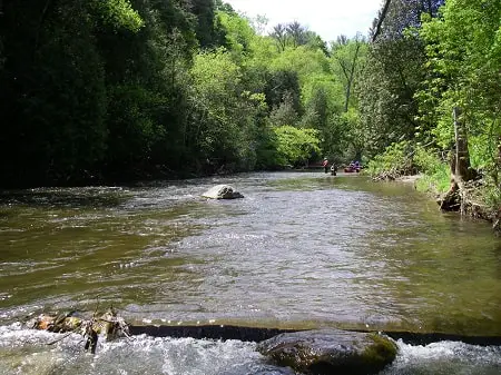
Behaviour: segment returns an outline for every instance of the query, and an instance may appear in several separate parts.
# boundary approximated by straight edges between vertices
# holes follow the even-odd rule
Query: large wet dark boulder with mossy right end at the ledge
[[[285,333],[259,343],[257,349],[306,374],[377,374],[396,356],[391,338],[340,329]]]

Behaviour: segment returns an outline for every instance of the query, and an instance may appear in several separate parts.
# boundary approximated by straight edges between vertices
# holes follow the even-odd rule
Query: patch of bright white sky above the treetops
[[[326,42],[337,36],[367,36],[382,0],[224,0],[233,9],[254,18],[266,16],[268,29],[277,23],[297,21]]]

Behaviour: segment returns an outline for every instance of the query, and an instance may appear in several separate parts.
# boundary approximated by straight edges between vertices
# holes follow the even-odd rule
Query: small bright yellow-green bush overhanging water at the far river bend
[[[321,152],[318,131],[315,129],[297,129],[286,125],[276,128],[275,135],[276,159],[281,166],[302,166]]]

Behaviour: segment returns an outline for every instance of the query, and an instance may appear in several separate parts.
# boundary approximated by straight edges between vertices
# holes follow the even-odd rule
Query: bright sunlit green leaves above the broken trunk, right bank
[[[431,130],[444,148],[454,141],[452,108],[463,110],[472,135],[474,165],[492,164],[495,139],[501,135],[501,3],[451,0],[441,17],[428,19],[420,30],[428,42],[429,77],[419,92],[424,117],[436,122]],[[491,151],[489,151],[491,150]]]

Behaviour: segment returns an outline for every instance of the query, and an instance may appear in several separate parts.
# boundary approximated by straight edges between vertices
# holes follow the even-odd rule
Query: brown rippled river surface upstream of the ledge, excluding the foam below
[[[246,198],[199,198],[215,184]],[[472,329],[499,330],[490,229],[441,216],[412,187],[285,172],[39,189],[16,199],[0,228],[22,230],[0,231],[0,289],[12,295],[1,306],[60,295],[56,306],[84,308],[98,294],[117,307],[158,305],[190,319],[445,330],[475,320]]]

